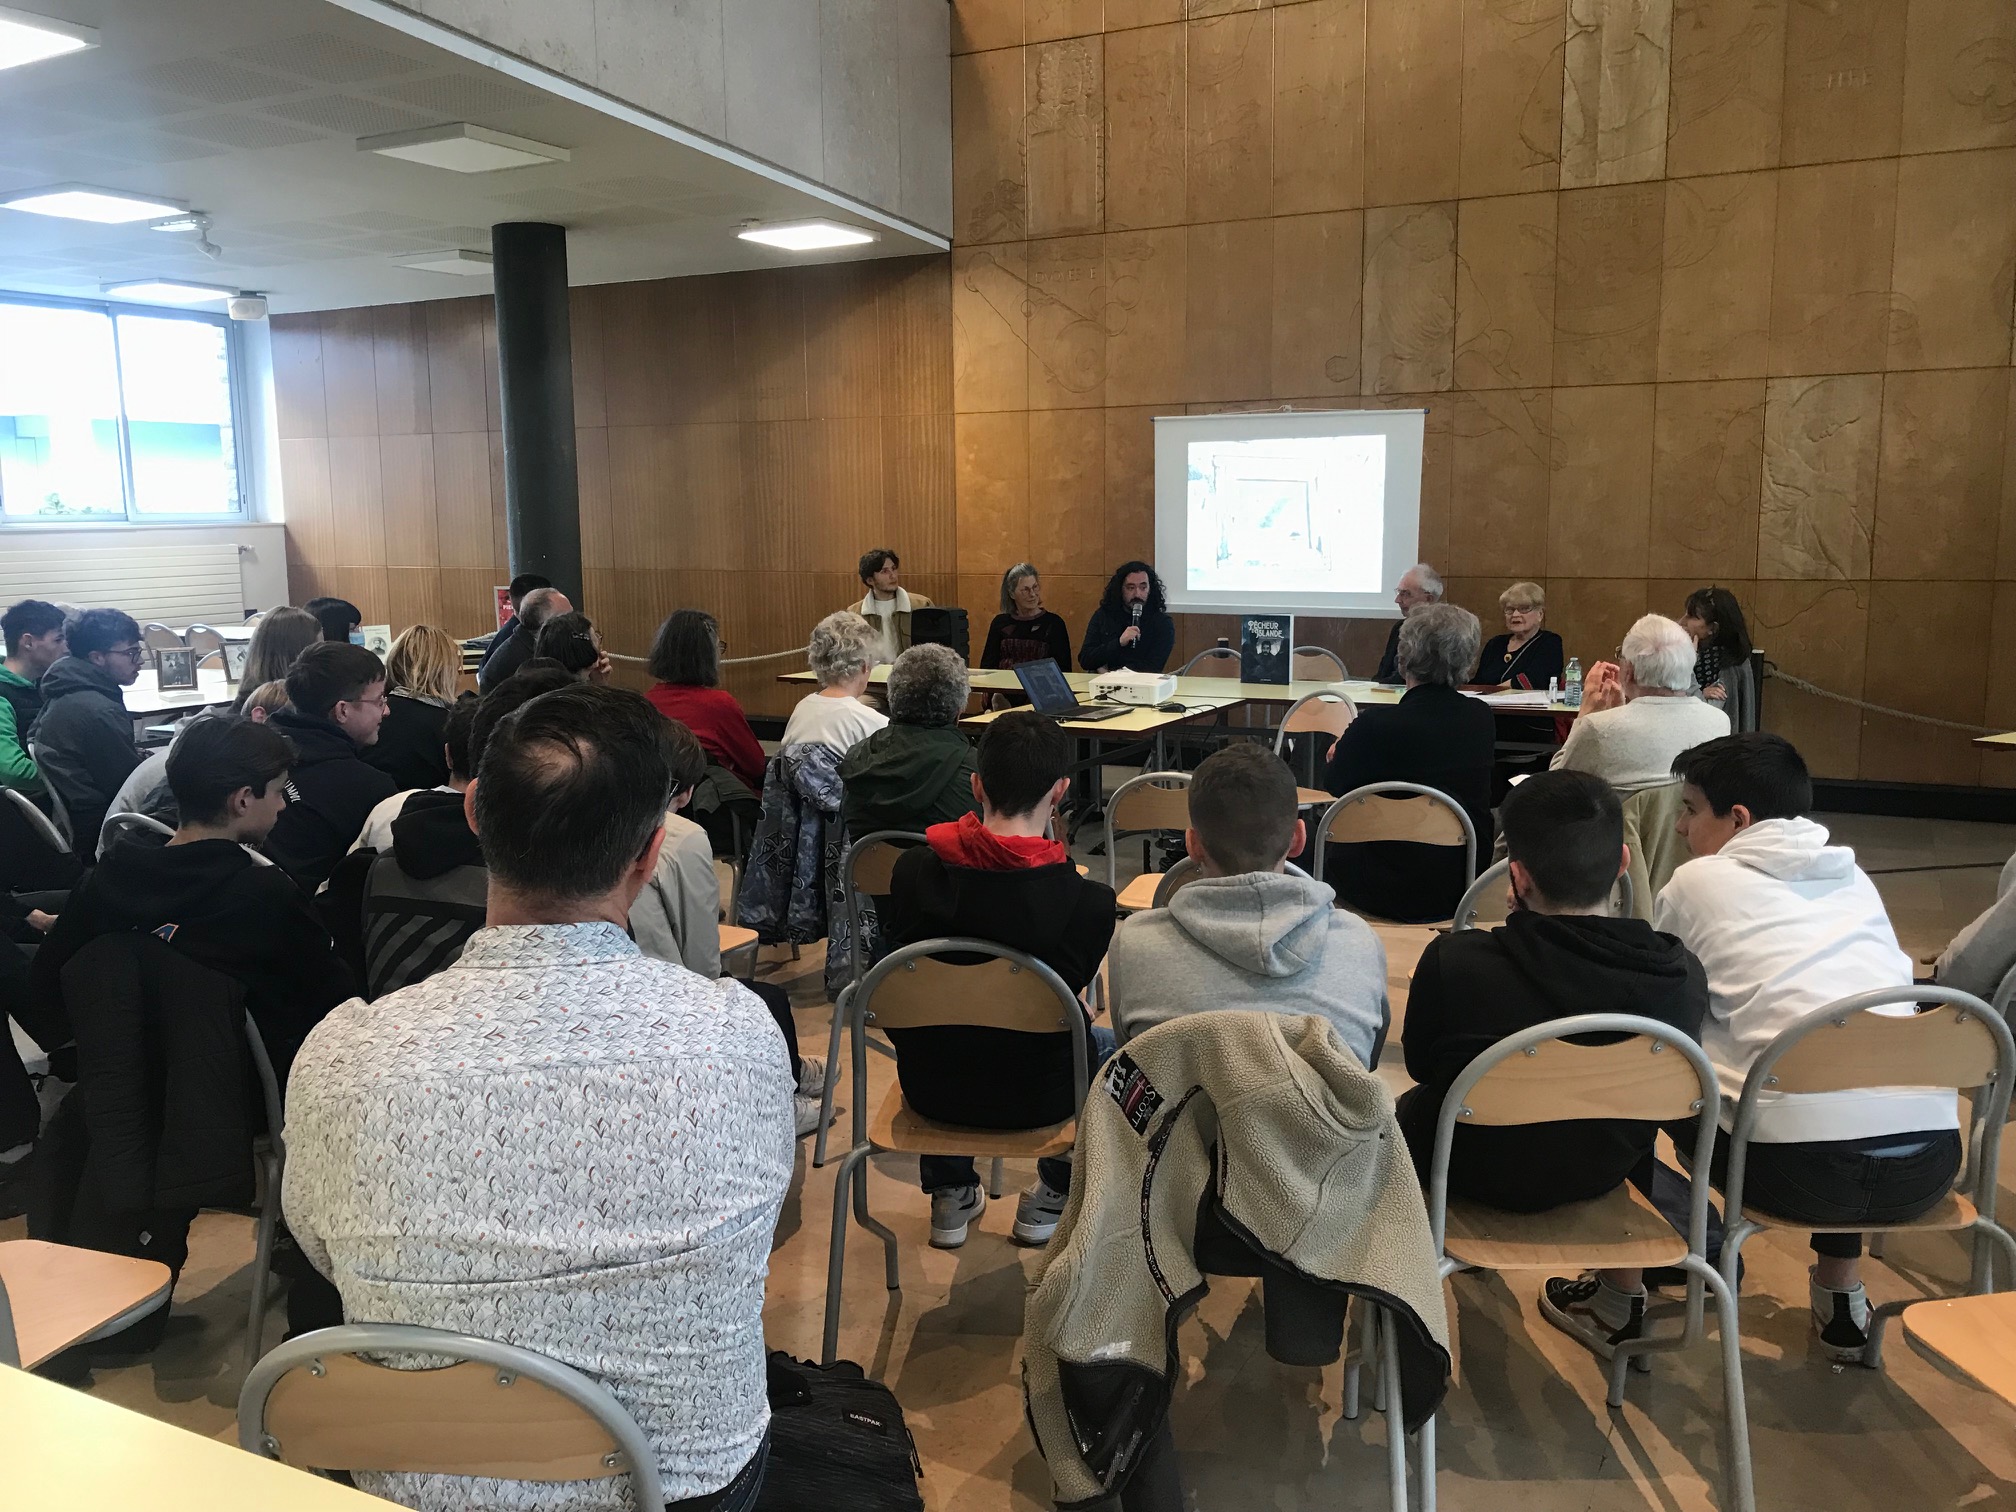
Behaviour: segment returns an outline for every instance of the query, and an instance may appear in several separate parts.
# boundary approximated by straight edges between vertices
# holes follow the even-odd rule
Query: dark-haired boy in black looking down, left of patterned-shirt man
[[[351,649],[351,647],[343,647]],[[147,931],[177,954],[246,990],[244,1006],[258,1026],[280,1085],[286,1085],[294,1052],[308,1030],[353,994],[349,972],[329,946],[300,889],[278,867],[262,865],[246,849],[256,845],[280,814],[292,746],[270,726],[244,718],[204,720],[175,744],[167,780],[175,790],[181,827],[167,845],[121,845],[71,893],[46,943],[36,952],[30,994],[36,1004],[36,1036],[69,1038],[73,1008],[65,1002],[62,968],[91,941],[109,933]],[[42,1042],[42,1048],[56,1048]],[[93,1091],[91,1064],[83,1066],[79,1093]],[[234,1077],[240,1064],[220,1066]],[[248,1097],[256,1097],[250,1089]],[[69,1111],[69,1107],[65,1109]],[[99,1113],[99,1109],[93,1109]],[[145,1111],[137,1111],[145,1117]],[[58,1113],[62,1119],[62,1113]],[[79,1242],[111,1248],[107,1236],[119,1232],[121,1216],[93,1208],[91,1193],[77,1191],[81,1151],[75,1133],[81,1123],[65,1119],[67,1139],[50,1127],[50,1163],[36,1173],[36,1212]],[[196,1131],[173,1131],[194,1135]],[[60,1145],[60,1149],[58,1149]],[[42,1161],[42,1155],[36,1155]],[[125,1214],[137,1246],[179,1270],[187,1258],[187,1224],[194,1210],[153,1210]],[[89,1238],[87,1238],[89,1234]]]

